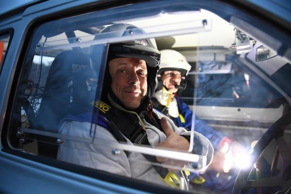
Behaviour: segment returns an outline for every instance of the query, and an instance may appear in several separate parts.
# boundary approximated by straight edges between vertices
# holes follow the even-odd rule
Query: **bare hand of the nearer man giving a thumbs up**
[[[176,132],[174,132],[167,123],[166,117],[162,117],[161,119],[162,129],[167,137],[167,139],[158,144],[157,147],[166,147],[171,149],[180,149],[183,151],[187,151],[190,147],[190,143],[188,140]],[[170,172],[178,172],[179,170],[183,170],[184,166],[187,165],[188,162],[178,161],[163,157],[157,157],[158,162],[162,162],[162,167],[167,168],[165,165],[175,166],[175,168],[167,168]],[[177,168],[176,168],[177,167]]]

